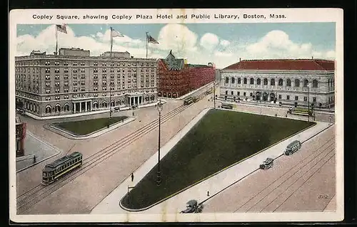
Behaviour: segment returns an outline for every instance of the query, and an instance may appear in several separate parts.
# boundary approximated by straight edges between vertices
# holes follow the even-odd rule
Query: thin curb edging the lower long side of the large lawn
[[[213,110],[212,107],[206,108],[206,109]],[[206,109],[204,109],[204,110],[206,110]],[[204,111],[204,110],[203,110],[203,111]],[[218,110],[219,110],[219,109],[218,109]],[[209,111],[209,110],[208,110],[208,111]],[[208,111],[207,111],[207,112],[208,112]],[[239,112],[239,111],[236,111],[236,110],[231,110],[231,111]],[[205,115],[206,115],[206,114],[205,114]],[[271,115],[267,115],[267,116],[271,117]],[[203,115],[203,117],[204,117],[204,115]],[[285,117],[283,117],[283,118],[285,118]],[[199,121],[198,121],[198,122],[199,122]],[[198,122],[197,122],[197,123],[198,123]],[[195,124],[195,125],[196,125],[196,124]],[[203,178],[203,179],[201,179],[201,180],[199,180],[199,181],[196,181],[195,183],[193,183],[193,184],[191,184],[191,185],[189,185],[189,186],[186,186],[186,188],[183,188],[183,189],[181,189],[180,191],[176,191],[174,194],[171,194],[170,196],[166,196],[164,199],[161,199],[160,201],[157,201],[155,204],[152,204],[152,205],[150,205],[150,206],[147,206],[147,207],[145,207],[145,208],[140,208],[140,209],[130,209],[130,208],[126,208],[126,207],[124,207],[124,206],[121,204],[121,201],[123,201],[124,197],[126,196],[126,195],[125,195],[125,196],[124,196],[123,198],[121,198],[121,200],[119,201],[119,206],[120,206],[121,208],[123,208],[125,211],[133,211],[133,212],[146,211],[146,210],[148,210],[149,208],[151,208],[151,207],[153,207],[153,206],[156,206],[156,205],[158,205],[158,204],[161,204],[163,201],[166,201],[166,200],[168,200],[168,199],[170,199],[170,198],[176,196],[177,194],[180,194],[181,192],[186,191],[187,189],[190,189],[191,187],[196,186],[197,184],[200,184],[202,181],[206,181],[206,179],[209,179],[209,178],[211,178],[212,176],[216,176],[217,174],[220,174],[221,172],[226,171],[226,169],[229,169],[229,168],[231,168],[231,167],[234,167],[234,166],[236,166],[236,164],[239,164],[239,163],[241,163],[241,162],[243,162],[243,161],[246,161],[246,159],[250,159],[251,157],[254,157],[254,156],[256,156],[257,154],[260,154],[261,152],[264,152],[266,149],[269,149],[269,148],[275,146],[276,144],[278,144],[278,143],[280,143],[280,142],[283,142],[283,141],[285,141],[286,139],[289,139],[289,138],[295,136],[296,134],[299,134],[299,133],[301,133],[301,132],[304,132],[304,131],[306,131],[306,130],[310,129],[311,127],[314,127],[314,126],[316,126],[316,122],[315,122],[315,124],[313,124],[313,125],[311,125],[311,126],[309,126],[309,127],[306,127],[305,129],[303,129],[303,130],[301,130],[301,131],[298,131],[298,132],[296,132],[296,133],[294,133],[294,134],[291,134],[290,136],[288,136],[288,137],[286,137],[286,138],[283,138],[283,139],[281,139],[280,141],[275,142],[274,144],[271,144],[269,147],[266,147],[266,148],[264,148],[264,149],[261,149],[259,152],[256,152],[256,153],[254,153],[254,154],[251,154],[250,156],[248,156],[248,157],[246,157],[246,158],[244,158],[244,159],[241,159],[241,160],[239,160],[238,162],[235,162],[235,163],[229,165],[228,167],[225,167],[225,168],[223,168],[223,169],[221,169],[221,170],[219,170],[219,171],[216,171],[215,173],[211,174],[210,176],[206,176],[205,178]],[[169,151],[169,152],[170,152],[170,151]],[[168,152],[168,153],[169,153],[169,152]],[[280,156],[279,156],[279,157],[280,157]],[[255,171],[256,171],[256,170],[255,170]],[[139,181],[139,182],[140,182],[140,181]],[[139,183],[139,182],[138,182],[138,183]],[[137,184],[138,184],[138,183],[137,183]]]

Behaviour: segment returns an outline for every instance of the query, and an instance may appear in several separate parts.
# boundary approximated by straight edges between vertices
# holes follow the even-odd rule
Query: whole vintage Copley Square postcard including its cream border
[[[9,23],[11,221],[343,220],[342,9]]]

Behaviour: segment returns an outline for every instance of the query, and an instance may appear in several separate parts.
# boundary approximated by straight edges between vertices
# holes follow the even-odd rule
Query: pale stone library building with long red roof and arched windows
[[[240,60],[221,70],[220,97],[300,106],[309,99],[315,107],[333,107],[334,82],[333,60]]]

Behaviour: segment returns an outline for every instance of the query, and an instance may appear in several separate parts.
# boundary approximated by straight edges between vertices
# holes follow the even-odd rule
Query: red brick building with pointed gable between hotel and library
[[[216,68],[211,63],[187,64],[182,58],[175,58],[170,51],[165,59],[158,60],[157,70],[158,96],[176,98],[211,83]]]

